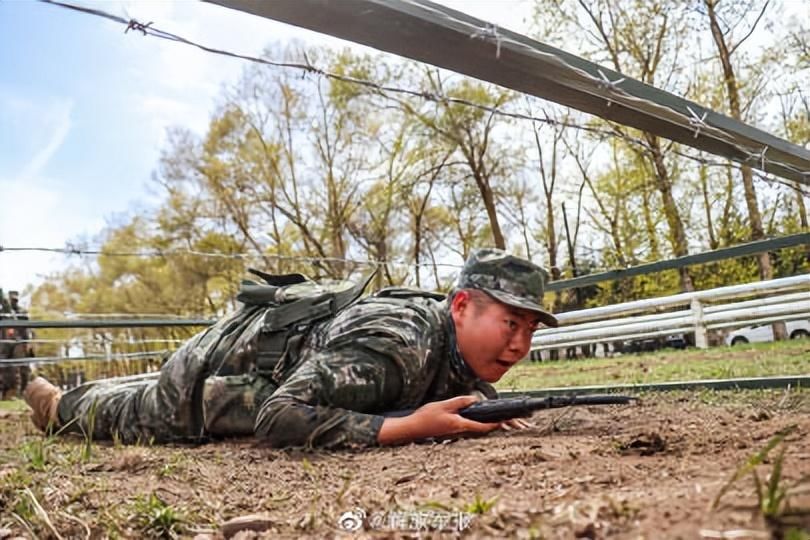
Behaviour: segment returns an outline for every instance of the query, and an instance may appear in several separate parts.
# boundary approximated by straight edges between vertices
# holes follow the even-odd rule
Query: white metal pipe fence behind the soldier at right
[[[810,274],[571,311],[557,319],[559,328],[535,333],[534,358],[541,351],[673,334],[691,334],[695,346],[706,348],[710,331],[810,319]]]

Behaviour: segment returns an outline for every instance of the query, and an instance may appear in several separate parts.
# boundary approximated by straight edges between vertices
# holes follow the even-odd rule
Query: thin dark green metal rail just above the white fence
[[[706,264],[715,261],[722,261],[724,259],[746,257],[748,255],[756,255],[759,253],[765,253],[766,251],[775,251],[777,249],[795,246],[810,246],[810,233],[799,233],[792,234],[790,236],[782,236],[780,238],[757,240],[756,242],[738,244],[732,247],[715,249],[714,251],[705,251],[695,255],[684,255],[683,257],[676,257],[666,261],[656,261],[652,263],[639,264],[638,266],[631,266],[630,268],[600,272],[599,274],[588,274],[587,276],[580,276],[572,279],[552,281],[548,284],[546,290],[563,291],[566,289],[575,289],[577,287],[586,287],[602,281],[615,281],[618,279],[625,279],[643,274],[651,274],[653,272],[675,270],[694,264]]]

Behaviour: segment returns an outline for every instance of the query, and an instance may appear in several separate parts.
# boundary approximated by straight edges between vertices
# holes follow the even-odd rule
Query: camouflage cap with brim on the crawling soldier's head
[[[548,272],[526,259],[503,250],[474,250],[458,277],[459,289],[480,289],[504,304],[528,309],[540,315],[546,326],[557,319],[543,308],[543,289]]]

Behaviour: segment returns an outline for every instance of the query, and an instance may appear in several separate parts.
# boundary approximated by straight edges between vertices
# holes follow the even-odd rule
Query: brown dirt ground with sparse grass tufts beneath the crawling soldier
[[[808,413],[807,391],[648,394],[536,413],[526,431],[362,452],[239,441],[88,455],[86,441],[44,439],[6,410],[0,538],[222,537],[249,514],[266,529],[239,538],[810,538]],[[750,475],[712,510],[732,474],[793,424],[756,468],[766,481],[784,448],[776,491],[798,486],[793,510],[780,506],[769,526]]]

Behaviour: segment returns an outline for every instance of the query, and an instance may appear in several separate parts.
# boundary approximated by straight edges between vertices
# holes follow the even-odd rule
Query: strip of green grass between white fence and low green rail
[[[664,350],[613,358],[524,361],[496,385],[498,390],[640,384],[680,380],[806,375],[810,340],[756,343],[712,349]]]

